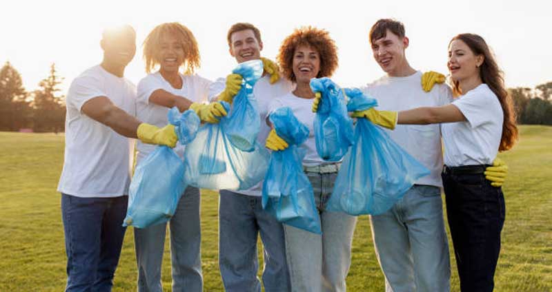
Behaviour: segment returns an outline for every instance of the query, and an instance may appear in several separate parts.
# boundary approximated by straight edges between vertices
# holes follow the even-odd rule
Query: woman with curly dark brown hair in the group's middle
[[[284,39],[277,58],[284,76],[296,87],[293,92],[276,98],[269,112],[278,107],[290,107],[310,130],[308,139],[301,145],[306,149],[303,166],[313,185],[322,223],[322,236],[284,225],[292,291],[345,291],[356,218],[325,211],[340,163],[328,163],[317,154],[313,130],[315,114],[311,110],[315,93],[310,86],[311,79],[333,74],[337,68],[337,46],[326,30],[299,28]],[[281,145],[278,143],[281,140],[273,130],[267,138],[267,147],[282,150],[285,146],[275,147]]]

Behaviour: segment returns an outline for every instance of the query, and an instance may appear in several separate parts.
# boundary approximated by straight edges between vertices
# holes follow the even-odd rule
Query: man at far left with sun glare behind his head
[[[175,147],[172,125],[138,121],[136,87],[124,78],[136,51],[129,25],[102,34],[103,61],[72,81],[66,98],[61,215],[67,253],[66,291],[111,291],[125,227],[130,140]]]

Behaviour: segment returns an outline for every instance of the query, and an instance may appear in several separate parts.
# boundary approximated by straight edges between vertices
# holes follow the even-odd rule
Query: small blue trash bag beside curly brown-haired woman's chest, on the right
[[[326,77],[312,79],[311,90],[322,93],[314,122],[316,151],[324,160],[339,161],[353,144],[353,119],[347,114],[345,97]]]

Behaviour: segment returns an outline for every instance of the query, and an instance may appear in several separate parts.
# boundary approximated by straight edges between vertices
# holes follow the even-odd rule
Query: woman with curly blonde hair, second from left
[[[199,67],[199,49],[195,36],[180,23],[157,25],[144,41],[144,59],[148,75],[138,83],[136,110],[141,121],[166,125],[171,107],[181,112],[195,110],[201,121],[216,123],[219,103],[206,105],[211,81],[195,74]],[[155,68],[159,70],[152,72]],[[179,70],[184,67],[184,74]],[[224,111],[224,109],[223,109]],[[137,163],[154,145],[137,144]],[[182,156],[184,146],[175,152]],[[201,229],[199,225],[199,189],[188,187],[170,219],[170,255],[173,291],[202,291]],[[138,264],[138,291],[162,291],[161,261],[166,224],[134,229]]]

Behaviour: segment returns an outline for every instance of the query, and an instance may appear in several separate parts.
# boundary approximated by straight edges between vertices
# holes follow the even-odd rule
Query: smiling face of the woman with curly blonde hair
[[[178,72],[184,64],[184,46],[174,34],[163,34],[157,45],[155,61],[161,66],[160,71]]]

